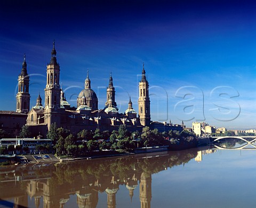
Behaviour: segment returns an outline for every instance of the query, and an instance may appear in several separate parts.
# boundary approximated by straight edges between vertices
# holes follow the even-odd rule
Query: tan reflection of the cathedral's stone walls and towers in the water
[[[140,178],[137,178],[140,177]],[[119,190],[119,185],[125,185],[129,190],[127,195],[130,195],[131,202],[133,197],[133,190],[138,187],[138,179],[140,180],[140,203],[143,208],[150,208],[151,202],[151,175],[147,176],[146,173],[141,173],[140,176],[133,174],[132,178],[127,178],[125,184],[120,182],[118,178],[111,177],[111,181],[101,182],[94,181],[94,184],[87,184],[80,188],[59,187],[57,192],[52,192],[51,181],[45,179],[29,180],[26,184],[26,194],[17,196],[14,198],[14,206],[28,207],[28,197],[34,198],[35,207],[39,207],[41,198],[43,198],[43,207],[64,207],[69,201],[70,195],[76,195],[77,205],[79,208],[93,208],[97,207],[99,192],[105,192],[107,194],[107,207],[116,207],[116,194]],[[107,187],[105,189],[105,187]],[[41,206],[42,207],[42,206]]]

